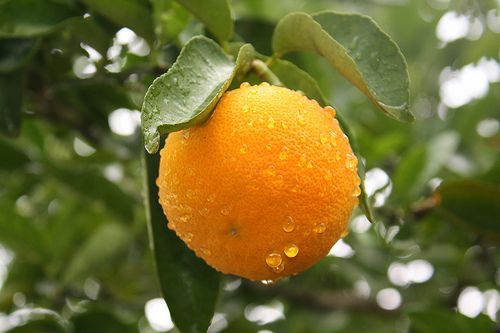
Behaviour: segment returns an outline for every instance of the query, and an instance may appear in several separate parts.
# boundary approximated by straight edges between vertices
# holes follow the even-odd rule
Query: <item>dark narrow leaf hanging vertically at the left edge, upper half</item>
[[[21,126],[24,70],[0,73],[0,131],[17,136]]]

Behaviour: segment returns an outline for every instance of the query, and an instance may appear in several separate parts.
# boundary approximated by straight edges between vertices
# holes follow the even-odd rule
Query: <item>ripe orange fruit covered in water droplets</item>
[[[208,121],[171,133],[161,150],[168,227],[226,274],[277,280],[306,270],[346,234],[358,203],[357,160],[334,117],[266,83],[226,92]],[[271,253],[280,258],[270,265]]]

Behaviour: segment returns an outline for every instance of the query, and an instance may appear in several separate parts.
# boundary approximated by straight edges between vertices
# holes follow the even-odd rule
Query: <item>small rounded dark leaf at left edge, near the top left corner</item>
[[[11,72],[26,65],[37,45],[36,39],[0,39],[0,73]]]

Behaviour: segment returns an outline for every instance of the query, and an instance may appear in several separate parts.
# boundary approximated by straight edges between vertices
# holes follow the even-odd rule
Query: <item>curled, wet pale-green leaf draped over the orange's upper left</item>
[[[254,49],[245,44],[236,63],[211,39],[192,38],[175,64],[148,89],[142,106],[142,131],[149,153],[158,151],[160,134],[204,122],[238,72],[247,71]]]

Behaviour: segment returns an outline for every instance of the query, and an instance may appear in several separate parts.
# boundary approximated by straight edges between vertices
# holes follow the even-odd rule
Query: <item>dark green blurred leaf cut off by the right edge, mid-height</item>
[[[500,187],[475,180],[443,183],[437,189],[438,211],[452,221],[500,236]]]

